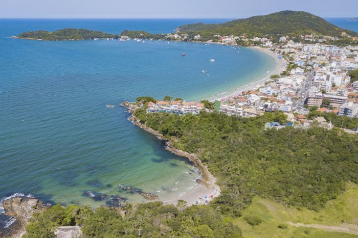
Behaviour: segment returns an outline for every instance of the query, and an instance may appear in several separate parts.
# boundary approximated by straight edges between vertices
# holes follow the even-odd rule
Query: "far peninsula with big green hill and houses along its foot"
[[[307,36],[325,39],[327,44],[352,45],[358,43],[358,33],[339,28],[319,16],[301,11],[281,11],[220,24],[187,24],[178,27],[176,33],[170,34],[160,35],[144,31],[123,31],[121,36],[218,42],[243,46],[257,45],[257,42],[255,42],[257,38],[264,38],[273,43],[278,43],[280,42],[280,37],[286,37],[295,42],[307,43]]]

